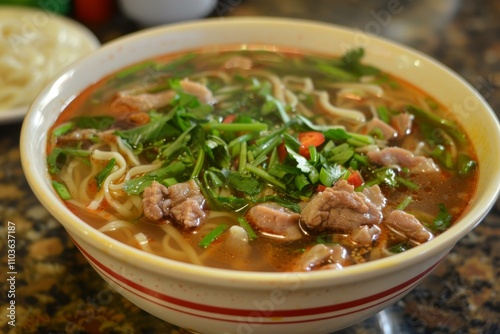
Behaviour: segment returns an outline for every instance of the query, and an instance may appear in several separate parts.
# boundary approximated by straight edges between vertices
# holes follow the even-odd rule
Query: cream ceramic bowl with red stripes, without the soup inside
[[[47,131],[78,92],[129,64],[169,52],[221,44],[268,44],[329,54],[362,46],[366,62],[421,87],[463,123],[480,166],[470,210],[419,247],[342,271],[257,273],[219,270],[146,254],[99,233],[59,200],[47,175]],[[429,57],[359,31],[286,19],[206,20],[127,36],[77,62],[32,105],[21,134],[26,177],[41,203],[95,270],[139,307],[202,333],[327,333],[394,303],[418,284],[493,205],[500,185],[500,128],[481,96]]]

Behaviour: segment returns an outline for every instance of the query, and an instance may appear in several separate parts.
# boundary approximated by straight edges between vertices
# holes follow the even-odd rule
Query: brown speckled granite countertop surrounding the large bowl
[[[223,0],[212,16],[299,17],[376,33],[438,59],[500,115],[500,2],[401,0],[398,12],[388,16],[389,2]],[[91,28],[105,42],[138,27],[118,14]],[[183,333],[113,291],[40,205],[21,169],[20,129],[20,122],[0,125],[0,332]],[[16,327],[8,324],[5,283],[9,222],[16,237]],[[499,240],[497,201],[413,291],[341,333],[500,333]]]

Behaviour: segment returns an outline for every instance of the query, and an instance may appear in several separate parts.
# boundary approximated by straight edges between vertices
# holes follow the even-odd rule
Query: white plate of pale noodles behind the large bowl
[[[0,122],[22,119],[64,67],[100,46],[83,25],[55,13],[0,6]]]

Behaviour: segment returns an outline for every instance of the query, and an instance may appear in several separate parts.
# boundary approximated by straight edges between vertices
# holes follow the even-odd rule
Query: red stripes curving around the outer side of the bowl
[[[369,308],[378,306],[380,304],[383,304],[391,299],[394,299],[407,291],[411,290],[415,285],[418,284],[418,282],[424,278],[428,273],[430,273],[440,262],[443,258],[439,259],[434,263],[431,267],[427,268],[425,271],[422,273],[414,276],[413,278],[398,284],[395,287],[392,287],[390,289],[384,290],[382,292],[355,299],[352,301],[348,302],[343,302],[343,303],[338,303],[338,304],[332,304],[332,305],[326,305],[326,306],[320,306],[320,307],[313,307],[313,308],[307,308],[307,309],[294,309],[294,310],[270,310],[270,311],[264,311],[264,312],[259,312],[258,310],[255,309],[237,309],[237,308],[227,308],[227,307],[219,307],[219,306],[212,306],[212,305],[206,305],[206,304],[201,304],[201,303],[195,303],[192,301],[172,297],[169,295],[166,295],[161,292],[157,292],[155,290],[152,290],[150,288],[147,288],[145,286],[142,286],[136,282],[133,282],[122,275],[114,272],[110,268],[106,267],[104,264],[102,264],[100,261],[95,259],[92,255],[90,255],[87,251],[85,251],[75,240],[73,240],[75,245],[78,247],[78,249],[85,255],[87,260],[92,264],[94,269],[96,269],[99,273],[113,281],[115,284],[120,286],[121,288],[127,290],[128,292],[134,294],[137,297],[143,298],[149,302],[152,302],[154,304],[157,304],[159,306],[165,307],[167,309],[181,312],[184,314],[188,315],[193,315],[197,317],[202,317],[202,318],[207,318],[207,319],[213,319],[213,320],[219,320],[219,321],[228,321],[228,322],[245,322],[245,323],[252,323],[252,321],[248,321],[249,319],[255,318],[255,316],[258,313],[259,318],[266,318],[270,320],[269,324],[292,324],[292,323],[300,323],[300,322],[312,322],[312,321],[320,321],[320,320],[327,320],[331,318],[337,318],[340,316],[344,315],[349,315],[353,314],[356,312],[361,312],[364,310],[367,310]],[[138,293],[138,292],[140,293]],[[142,294],[141,294],[142,293]],[[144,295],[147,295],[148,298],[146,298]],[[152,297],[152,299],[151,299]],[[199,314],[199,313],[193,313],[193,312],[188,312],[179,308],[175,308],[169,305],[165,305],[164,303],[168,303],[171,305],[175,305],[184,309],[189,309],[192,311],[200,311],[204,313],[209,313],[209,314],[215,314],[218,316],[238,316],[238,317],[244,317],[244,319],[227,319],[227,318],[220,318],[220,317],[214,317],[214,316],[207,316],[204,314]],[[369,304],[369,305],[367,305]],[[355,309],[354,309],[355,308]],[[351,309],[351,310],[349,310]],[[354,309],[354,310],[353,310]],[[340,312],[340,311],[346,311],[344,313],[337,313],[337,314],[331,314],[335,312]],[[330,315],[326,315],[330,313]],[[314,319],[302,319],[302,320],[295,320],[295,321],[280,321],[279,319],[281,318],[293,318],[293,317],[305,317],[305,316],[318,316]],[[256,324],[262,324],[262,321],[257,321],[255,322]],[[267,324],[267,322],[266,322]]]

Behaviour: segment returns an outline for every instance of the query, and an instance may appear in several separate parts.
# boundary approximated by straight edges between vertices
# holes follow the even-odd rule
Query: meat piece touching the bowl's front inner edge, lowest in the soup
[[[347,251],[340,245],[317,244],[306,250],[294,266],[294,271],[342,269],[347,261]]]

